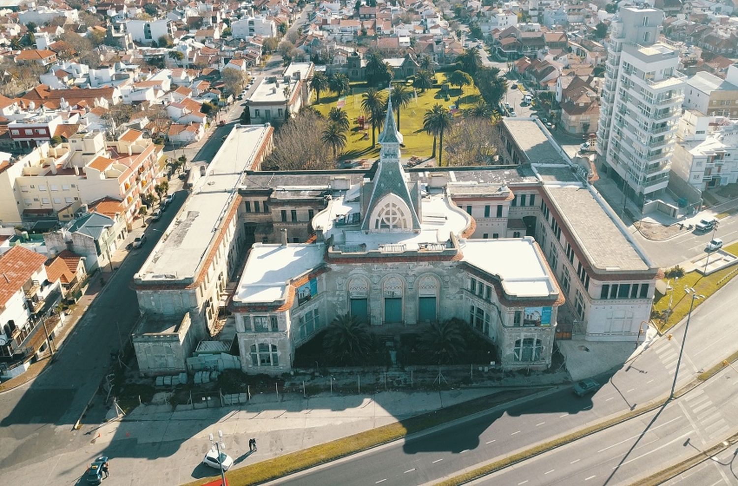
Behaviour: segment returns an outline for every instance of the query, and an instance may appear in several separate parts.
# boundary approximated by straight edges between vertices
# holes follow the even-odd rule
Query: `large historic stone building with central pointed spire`
[[[659,270],[538,119],[503,120],[507,164],[486,167],[406,170],[384,126],[370,170],[277,173],[258,170],[270,129],[234,129],[134,277],[142,372],[225,326],[244,371],[280,374],[346,313],[382,336],[463,319],[508,369],[550,366],[556,339],[641,337]]]

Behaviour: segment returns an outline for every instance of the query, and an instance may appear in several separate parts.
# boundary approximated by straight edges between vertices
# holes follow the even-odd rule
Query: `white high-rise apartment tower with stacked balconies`
[[[621,7],[607,43],[597,130],[599,164],[642,205],[669,182],[686,76],[678,52],[657,42],[663,12]]]

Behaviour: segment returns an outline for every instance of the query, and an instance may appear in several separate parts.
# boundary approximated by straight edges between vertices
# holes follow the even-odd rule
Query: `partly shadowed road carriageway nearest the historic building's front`
[[[734,281],[694,311],[680,366],[679,386],[691,381],[700,369],[738,350],[737,339],[716,339],[716,336],[737,336],[732,312],[736,298],[738,282]],[[635,409],[668,394],[682,333],[683,327],[677,327],[672,340],[655,341],[611,376],[591,398],[574,398],[565,389],[548,398],[416,440],[388,445],[346,462],[285,479],[280,484],[417,485],[502,457],[603,417]]]

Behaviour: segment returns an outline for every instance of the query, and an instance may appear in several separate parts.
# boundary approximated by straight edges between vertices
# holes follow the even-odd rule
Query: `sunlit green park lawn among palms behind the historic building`
[[[443,84],[446,81],[446,74],[437,73],[435,74],[435,78],[439,84]],[[352,85],[351,94],[346,97],[346,105],[343,109],[348,114],[348,119],[351,120],[351,130],[347,134],[348,144],[343,151],[342,160],[370,158],[379,155],[379,144],[374,149],[371,148],[371,125],[366,125],[366,131],[369,133],[368,139],[363,139],[364,133],[356,125],[356,118],[362,115],[362,93],[367,89],[366,86]],[[409,86],[408,89],[412,91],[413,87]],[[460,105],[463,110],[465,108],[471,108],[481,98],[476,86],[464,86],[463,92],[458,87],[452,87],[449,90],[450,96],[448,101],[444,101],[438,94],[438,91],[441,91],[441,89],[431,88],[425,93],[421,93],[418,89],[417,100],[410,101],[410,105],[400,111],[400,132],[404,136],[405,145],[402,149],[403,157],[418,156],[424,159],[430,157],[433,137],[425,133],[422,128],[424,114],[432,105],[441,103],[441,105],[449,108],[461,96]],[[386,92],[385,90],[385,96]],[[323,96],[323,94],[328,96]],[[337,101],[338,98],[332,93],[321,93],[320,104],[314,103],[314,107],[317,111],[325,115],[328,114],[328,111],[331,111],[331,108],[336,106]],[[459,117],[461,115],[456,114],[456,116]],[[379,136],[379,131],[376,135]]]

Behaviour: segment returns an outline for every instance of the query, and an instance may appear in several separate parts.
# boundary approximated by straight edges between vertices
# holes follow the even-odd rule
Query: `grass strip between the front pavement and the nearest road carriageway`
[[[257,462],[244,468],[234,469],[228,471],[226,477],[230,486],[258,485],[541,391],[541,389],[505,390],[486,397],[475,398],[435,412],[417,415],[397,423],[390,423],[386,426],[325,442],[325,444],[314,445],[311,448],[295,451],[274,459]],[[198,479],[184,486],[199,486],[213,481],[213,479],[215,479],[215,476]]]

